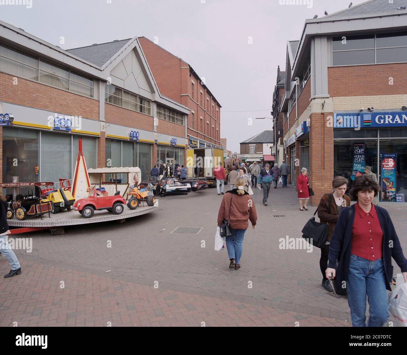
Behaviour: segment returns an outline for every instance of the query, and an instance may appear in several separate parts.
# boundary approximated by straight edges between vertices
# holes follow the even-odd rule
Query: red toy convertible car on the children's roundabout
[[[107,195],[105,188],[88,187],[89,196],[75,201],[72,210],[78,211],[83,217],[90,218],[94,210],[108,210],[115,215],[120,215],[124,210],[126,201],[116,191],[114,196]]]

